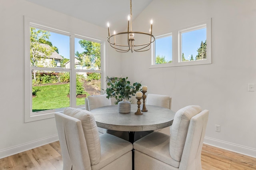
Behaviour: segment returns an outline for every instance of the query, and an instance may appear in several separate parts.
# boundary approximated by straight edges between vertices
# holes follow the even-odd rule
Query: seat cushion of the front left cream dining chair
[[[132,150],[132,144],[112,134],[100,135],[100,163],[92,165],[92,170],[99,170],[120,156]]]

